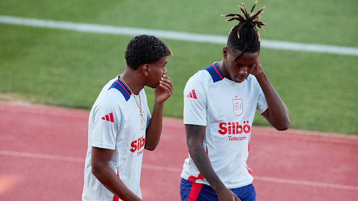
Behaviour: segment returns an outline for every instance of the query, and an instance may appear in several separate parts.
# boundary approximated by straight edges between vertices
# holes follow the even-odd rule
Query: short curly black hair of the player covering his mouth
[[[155,36],[140,35],[132,38],[125,52],[127,66],[138,69],[140,65],[152,64],[173,53],[167,45]]]

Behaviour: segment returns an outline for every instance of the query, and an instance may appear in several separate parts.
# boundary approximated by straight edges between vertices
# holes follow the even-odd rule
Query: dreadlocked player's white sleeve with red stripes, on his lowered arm
[[[184,124],[206,126],[207,97],[202,83],[190,78],[184,89]]]

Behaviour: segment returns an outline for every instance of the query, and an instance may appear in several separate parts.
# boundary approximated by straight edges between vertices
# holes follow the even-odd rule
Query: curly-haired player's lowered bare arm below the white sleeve
[[[92,146],[91,151],[92,174],[103,186],[123,201],[142,201],[127,188],[109,166],[114,150]]]

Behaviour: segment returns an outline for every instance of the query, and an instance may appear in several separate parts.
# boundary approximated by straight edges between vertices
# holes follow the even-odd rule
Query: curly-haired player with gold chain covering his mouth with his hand
[[[83,201],[142,201],[143,151],[157,147],[163,105],[173,93],[166,75],[171,55],[157,37],[130,40],[124,72],[102,88],[89,114]],[[155,88],[152,115],[144,86]]]

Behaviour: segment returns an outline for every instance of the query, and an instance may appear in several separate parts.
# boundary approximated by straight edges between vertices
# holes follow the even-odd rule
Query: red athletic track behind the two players
[[[87,110],[0,103],[0,200],[79,201]],[[144,201],[179,201],[187,157],[182,120],[165,119],[145,151]],[[357,201],[358,137],[254,127],[249,167],[259,201]]]

